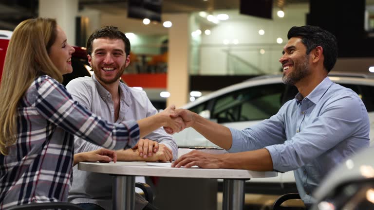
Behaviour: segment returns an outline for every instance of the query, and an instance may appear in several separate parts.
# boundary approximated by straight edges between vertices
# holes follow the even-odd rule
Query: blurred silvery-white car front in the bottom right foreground
[[[374,209],[374,147],[344,161],[314,192],[312,210]]]

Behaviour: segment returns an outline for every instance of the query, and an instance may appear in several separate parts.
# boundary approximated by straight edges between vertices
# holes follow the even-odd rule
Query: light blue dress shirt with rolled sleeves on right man
[[[298,93],[270,119],[242,131],[232,129],[228,152],[266,148],[279,172],[294,170],[306,205],[328,172],[369,146],[370,123],[358,95],[326,77],[305,98]]]

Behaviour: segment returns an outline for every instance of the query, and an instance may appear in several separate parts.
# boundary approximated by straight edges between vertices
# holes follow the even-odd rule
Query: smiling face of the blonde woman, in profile
[[[68,44],[65,32],[57,26],[56,40],[50,48],[49,57],[56,68],[62,73],[67,74],[73,72],[72,54],[74,48]]]

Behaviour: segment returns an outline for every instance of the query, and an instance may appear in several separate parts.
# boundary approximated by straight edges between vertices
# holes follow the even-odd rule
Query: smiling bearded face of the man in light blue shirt
[[[283,83],[296,85],[301,79],[310,74],[309,55],[301,38],[292,37],[283,48],[283,55],[279,59],[283,67]]]

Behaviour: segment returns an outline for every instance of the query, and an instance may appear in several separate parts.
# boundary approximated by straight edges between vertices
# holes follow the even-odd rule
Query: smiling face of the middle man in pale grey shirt
[[[92,43],[92,54],[88,55],[96,79],[109,85],[119,81],[130,64],[130,55],[125,53],[122,39],[97,38]]]

